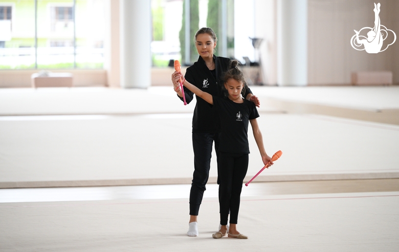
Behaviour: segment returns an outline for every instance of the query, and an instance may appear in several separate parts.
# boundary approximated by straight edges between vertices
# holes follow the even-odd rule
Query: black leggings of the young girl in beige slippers
[[[242,181],[247,175],[248,154],[219,152],[220,225],[237,224]]]

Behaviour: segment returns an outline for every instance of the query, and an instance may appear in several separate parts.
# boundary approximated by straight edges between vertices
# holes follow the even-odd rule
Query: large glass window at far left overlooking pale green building
[[[104,0],[0,0],[0,69],[104,65]]]

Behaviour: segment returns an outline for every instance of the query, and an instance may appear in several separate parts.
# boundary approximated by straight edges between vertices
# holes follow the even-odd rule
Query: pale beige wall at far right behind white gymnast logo
[[[381,24],[399,35],[396,0],[380,0]],[[399,41],[386,51],[369,54],[350,45],[353,30],[374,26],[372,0],[308,0],[308,84],[350,83],[352,71],[393,72],[399,82]],[[376,2],[378,3],[378,2]]]

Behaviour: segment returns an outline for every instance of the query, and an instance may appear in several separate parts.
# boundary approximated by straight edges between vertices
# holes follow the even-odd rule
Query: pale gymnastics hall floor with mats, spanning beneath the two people
[[[269,155],[218,227],[215,160],[188,237],[188,106],[169,87],[0,90],[0,251],[397,251],[399,87],[251,87]],[[246,181],[262,167],[251,131]]]

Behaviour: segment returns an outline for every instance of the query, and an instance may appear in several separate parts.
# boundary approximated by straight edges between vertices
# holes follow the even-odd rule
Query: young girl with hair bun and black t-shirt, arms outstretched
[[[230,228],[228,237],[248,239],[237,230],[242,182],[248,170],[248,122],[251,122],[256,144],[264,164],[271,158],[263,146],[262,134],[256,118],[259,114],[255,104],[241,97],[246,85],[242,72],[237,68],[238,61],[232,60],[230,69],[224,75],[224,87],[228,96],[221,98],[198,89],[182,76],[183,85],[193,92],[197,99],[203,99],[219,112],[221,132],[219,135],[219,207],[220,230],[212,235],[221,238],[227,233],[227,221],[230,210]],[[206,90],[206,89],[205,89]]]

